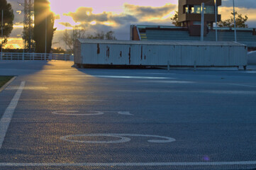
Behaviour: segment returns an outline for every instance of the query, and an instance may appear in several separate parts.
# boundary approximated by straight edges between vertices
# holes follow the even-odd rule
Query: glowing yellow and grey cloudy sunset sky
[[[22,10],[17,0],[7,1],[13,6],[13,11]],[[233,3],[232,0],[222,2],[219,13],[222,19],[226,19],[233,11]],[[248,26],[256,28],[255,0],[235,0],[235,3],[236,11],[249,17]],[[65,48],[65,43],[60,41],[60,37],[65,29],[70,32],[74,26],[82,26],[88,34],[113,30],[118,40],[129,40],[131,24],[171,26],[170,18],[174,11],[177,11],[177,6],[178,0],[50,0],[57,28],[53,47]],[[15,13],[14,23],[9,46],[22,47],[23,13]]]

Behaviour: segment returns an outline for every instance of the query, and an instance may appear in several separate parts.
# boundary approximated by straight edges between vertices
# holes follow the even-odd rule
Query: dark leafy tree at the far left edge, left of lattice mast
[[[7,3],[6,0],[0,0],[0,24],[1,24],[1,18],[2,18],[2,10],[4,10],[4,28],[3,28],[3,33],[4,33],[4,42],[3,45],[7,43],[7,38],[11,34],[11,31],[13,30],[13,19],[14,19],[14,14],[13,14],[13,9],[11,8],[11,4]],[[1,30],[0,30],[1,33]],[[1,35],[1,34],[0,34]]]

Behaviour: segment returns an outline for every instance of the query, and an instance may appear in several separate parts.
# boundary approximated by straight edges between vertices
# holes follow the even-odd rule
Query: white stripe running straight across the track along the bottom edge
[[[121,163],[0,163],[0,166],[227,166],[256,165],[251,162],[121,162]]]

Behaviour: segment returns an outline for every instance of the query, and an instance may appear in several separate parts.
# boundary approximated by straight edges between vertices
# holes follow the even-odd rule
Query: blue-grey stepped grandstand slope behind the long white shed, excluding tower
[[[200,36],[189,35],[189,30],[185,27],[174,26],[136,26],[138,28],[140,40],[200,40]],[[231,28],[217,28],[218,40],[234,41],[234,31]],[[237,40],[248,47],[256,47],[256,35],[252,35],[253,28],[238,28]],[[215,41],[215,28],[209,29],[204,40]]]

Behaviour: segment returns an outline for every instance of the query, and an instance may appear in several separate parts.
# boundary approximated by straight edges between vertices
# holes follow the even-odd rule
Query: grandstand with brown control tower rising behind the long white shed
[[[179,22],[182,27],[175,26],[130,26],[130,40],[200,40],[201,35],[201,3],[205,3],[204,40],[215,41],[216,28],[214,0],[179,0]],[[216,0],[217,13],[221,0]],[[221,21],[218,14],[217,21]],[[170,21],[171,22],[171,21]],[[219,41],[234,41],[233,28],[217,28]],[[256,50],[255,28],[238,28],[237,40],[248,49]]]

